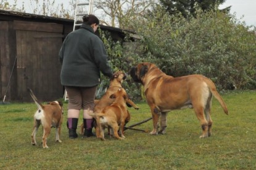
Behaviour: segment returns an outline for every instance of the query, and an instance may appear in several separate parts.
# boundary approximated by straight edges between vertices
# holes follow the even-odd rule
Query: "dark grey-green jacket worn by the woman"
[[[113,75],[104,44],[88,25],[83,24],[67,35],[59,60],[62,63],[60,80],[64,86],[93,87],[100,82],[100,71],[107,77]]]

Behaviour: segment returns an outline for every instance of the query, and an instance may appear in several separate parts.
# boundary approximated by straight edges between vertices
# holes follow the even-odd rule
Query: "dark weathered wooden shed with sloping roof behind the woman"
[[[116,41],[125,37],[122,29],[101,29]],[[72,30],[73,20],[0,10],[0,99],[31,101],[27,88],[41,101],[62,98],[58,54]]]

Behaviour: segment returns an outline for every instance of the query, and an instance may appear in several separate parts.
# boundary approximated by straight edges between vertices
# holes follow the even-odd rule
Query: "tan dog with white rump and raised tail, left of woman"
[[[41,104],[34,95],[33,91],[28,88],[32,99],[35,101],[38,110],[36,110],[34,115],[34,127],[33,133],[31,134],[32,145],[36,145],[36,133],[39,126],[43,126],[43,148],[48,148],[46,142],[47,137],[51,133],[51,128],[56,128],[56,142],[60,141],[60,131],[63,121],[63,104],[61,101],[52,101],[49,104]]]

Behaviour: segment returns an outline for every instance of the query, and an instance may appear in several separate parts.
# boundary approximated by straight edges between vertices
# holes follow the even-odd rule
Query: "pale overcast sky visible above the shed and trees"
[[[28,0],[23,0],[24,2],[30,2]],[[43,0],[39,0],[43,2]],[[97,0],[94,0],[97,1]],[[14,0],[9,0],[9,3],[12,4]],[[64,7],[68,7],[68,0],[55,0],[56,4],[64,3]],[[85,2],[81,1],[80,2]],[[19,0],[18,3],[22,4],[22,0]],[[226,0],[224,4],[220,6],[220,9],[231,6],[231,14],[235,14],[237,20],[245,21],[247,26],[256,26],[256,0]],[[29,11],[26,10],[28,13]]]

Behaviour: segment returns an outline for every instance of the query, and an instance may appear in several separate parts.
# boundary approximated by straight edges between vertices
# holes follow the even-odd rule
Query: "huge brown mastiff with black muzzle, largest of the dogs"
[[[163,73],[152,63],[138,64],[136,68],[131,69],[130,75],[134,82],[140,82],[144,86],[144,93],[153,119],[153,130],[150,134],[165,133],[166,116],[170,110],[194,108],[203,130],[200,137],[211,136],[212,95],[220,102],[224,112],[228,115],[226,104],[218,94],[214,83],[203,75],[172,77]],[[160,115],[161,129],[158,132]]]

